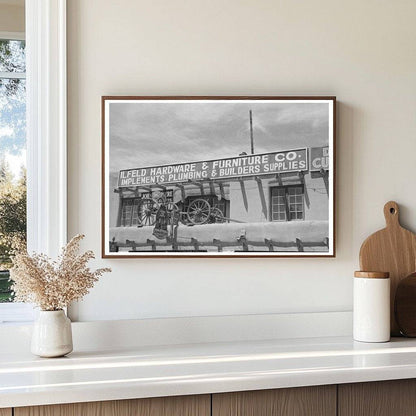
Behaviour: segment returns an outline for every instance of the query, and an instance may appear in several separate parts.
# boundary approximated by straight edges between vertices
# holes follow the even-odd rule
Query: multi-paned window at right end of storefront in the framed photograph
[[[272,221],[299,221],[305,219],[303,185],[271,188]]]

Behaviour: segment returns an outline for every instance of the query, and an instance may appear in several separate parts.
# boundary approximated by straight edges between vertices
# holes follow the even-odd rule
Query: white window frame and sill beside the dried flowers
[[[23,36],[27,247],[56,257],[67,241],[66,0],[26,0]],[[0,324],[28,322],[34,316],[32,305],[0,304]]]

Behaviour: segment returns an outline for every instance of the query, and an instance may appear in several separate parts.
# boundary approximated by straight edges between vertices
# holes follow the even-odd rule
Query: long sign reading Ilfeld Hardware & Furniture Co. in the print
[[[308,169],[307,149],[121,170],[119,187],[261,176]]]

